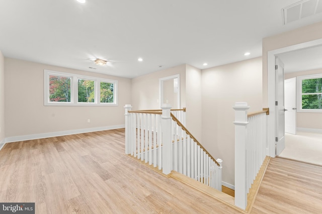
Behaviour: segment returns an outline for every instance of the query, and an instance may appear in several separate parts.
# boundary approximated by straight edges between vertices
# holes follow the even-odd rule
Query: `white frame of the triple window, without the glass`
[[[49,101],[49,76],[69,77],[70,80],[70,102]],[[78,79],[95,81],[95,102],[78,102]],[[101,103],[101,81],[114,84],[113,103]],[[118,81],[99,77],[84,76],[59,71],[44,70],[44,105],[45,106],[118,106]]]

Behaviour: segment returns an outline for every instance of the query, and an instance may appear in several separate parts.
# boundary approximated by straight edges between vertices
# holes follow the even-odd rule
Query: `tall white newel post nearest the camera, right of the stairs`
[[[247,192],[246,182],[246,137],[247,137],[247,110],[250,107],[246,102],[236,102],[235,110],[235,205],[246,209]]]

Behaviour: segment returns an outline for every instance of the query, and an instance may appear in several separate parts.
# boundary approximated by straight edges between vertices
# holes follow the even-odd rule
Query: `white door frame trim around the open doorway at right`
[[[313,46],[322,45],[322,39],[312,40],[305,43],[300,43],[280,49],[275,49],[267,52],[267,93],[268,93],[268,107],[270,115],[268,117],[268,151],[267,154],[271,157],[276,156],[275,151],[275,137],[276,137],[276,111],[275,111],[275,56],[278,54],[295,51],[303,48],[310,48]]]

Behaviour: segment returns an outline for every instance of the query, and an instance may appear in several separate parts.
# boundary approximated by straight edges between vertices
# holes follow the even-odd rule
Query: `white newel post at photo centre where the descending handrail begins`
[[[162,172],[171,173],[171,105],[163,104],[162,108]]]

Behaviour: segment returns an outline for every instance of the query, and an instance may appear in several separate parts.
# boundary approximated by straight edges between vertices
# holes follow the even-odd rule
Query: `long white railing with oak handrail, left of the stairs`
[[[125,106],[125,152],[169,174],[178,171],[221,190],[221,159],[215,160],[185,127],[185,109],[131,111]]]

